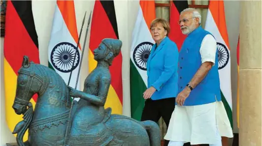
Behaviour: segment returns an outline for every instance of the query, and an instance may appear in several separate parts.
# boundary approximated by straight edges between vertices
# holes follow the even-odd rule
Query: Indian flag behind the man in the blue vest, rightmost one
[[[212,33],[217,41],[221,96],[229,117],[231,127],[233,127],[230,49],[223,0],[209,1],[205,30]]]

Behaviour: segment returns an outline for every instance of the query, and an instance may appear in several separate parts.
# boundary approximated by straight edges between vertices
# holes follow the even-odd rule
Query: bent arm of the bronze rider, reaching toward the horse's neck
[[[102,77],[99,81],[98,86],[98,96],[87,94],[85,92],[74,90],[70,92],[71,97],[80,97],[82,99],[85,99],[87,101],[90,101],[91,103],[94,103],[98,106],[104,106],[105,100],[107,97],[107,93],[110,86],[110,79],[106,77]]]

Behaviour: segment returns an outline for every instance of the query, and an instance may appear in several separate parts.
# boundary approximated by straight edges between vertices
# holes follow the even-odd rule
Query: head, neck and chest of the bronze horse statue
[[[33,109],[30,100],[35,94],[38,98]],[[20,134],[17,137],[18,142],[23,143],[24,132],[27,129],[30,131],[30,146],[43,144],[57,146],[57,143],[64,142],[71,99],[65,81],[54,70],[29,62],[29,58],[24,56],[22,67],[18,71],[16,95],[12,107],[16,114],[24,115],[24,120],[19,122],[14,130],[14,133]],[[24,131],[21,131],[21,126]],[[45,135],[42,133],[43,129],[53,134],[49,135],[45,131]],[[38,139],[38,135],[41,135],[41,139]],[[50,141],[45,143],[42,137]]]

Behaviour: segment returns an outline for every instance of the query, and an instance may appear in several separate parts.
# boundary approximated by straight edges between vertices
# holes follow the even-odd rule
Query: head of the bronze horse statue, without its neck
[[[36,65],[24,56],[22,67],[18,71],[16,96],[12,106],[16,114],[21,115],[26,112],[33,95],[44,92],[46,88],[44,84],[42,75],[36,72]]]

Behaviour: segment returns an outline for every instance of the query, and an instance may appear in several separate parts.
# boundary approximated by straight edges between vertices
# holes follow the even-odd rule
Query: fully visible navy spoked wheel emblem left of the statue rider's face
[[[76,56],[75,56],[76,53]],[[74,60],[75,56],[75,60]],[[73,63],[74,60],[74,63]],[[57,44],[51,52],[52,65],[63,73],[73,71],[79,64],[80,54],[76,47],[68,42]]]

